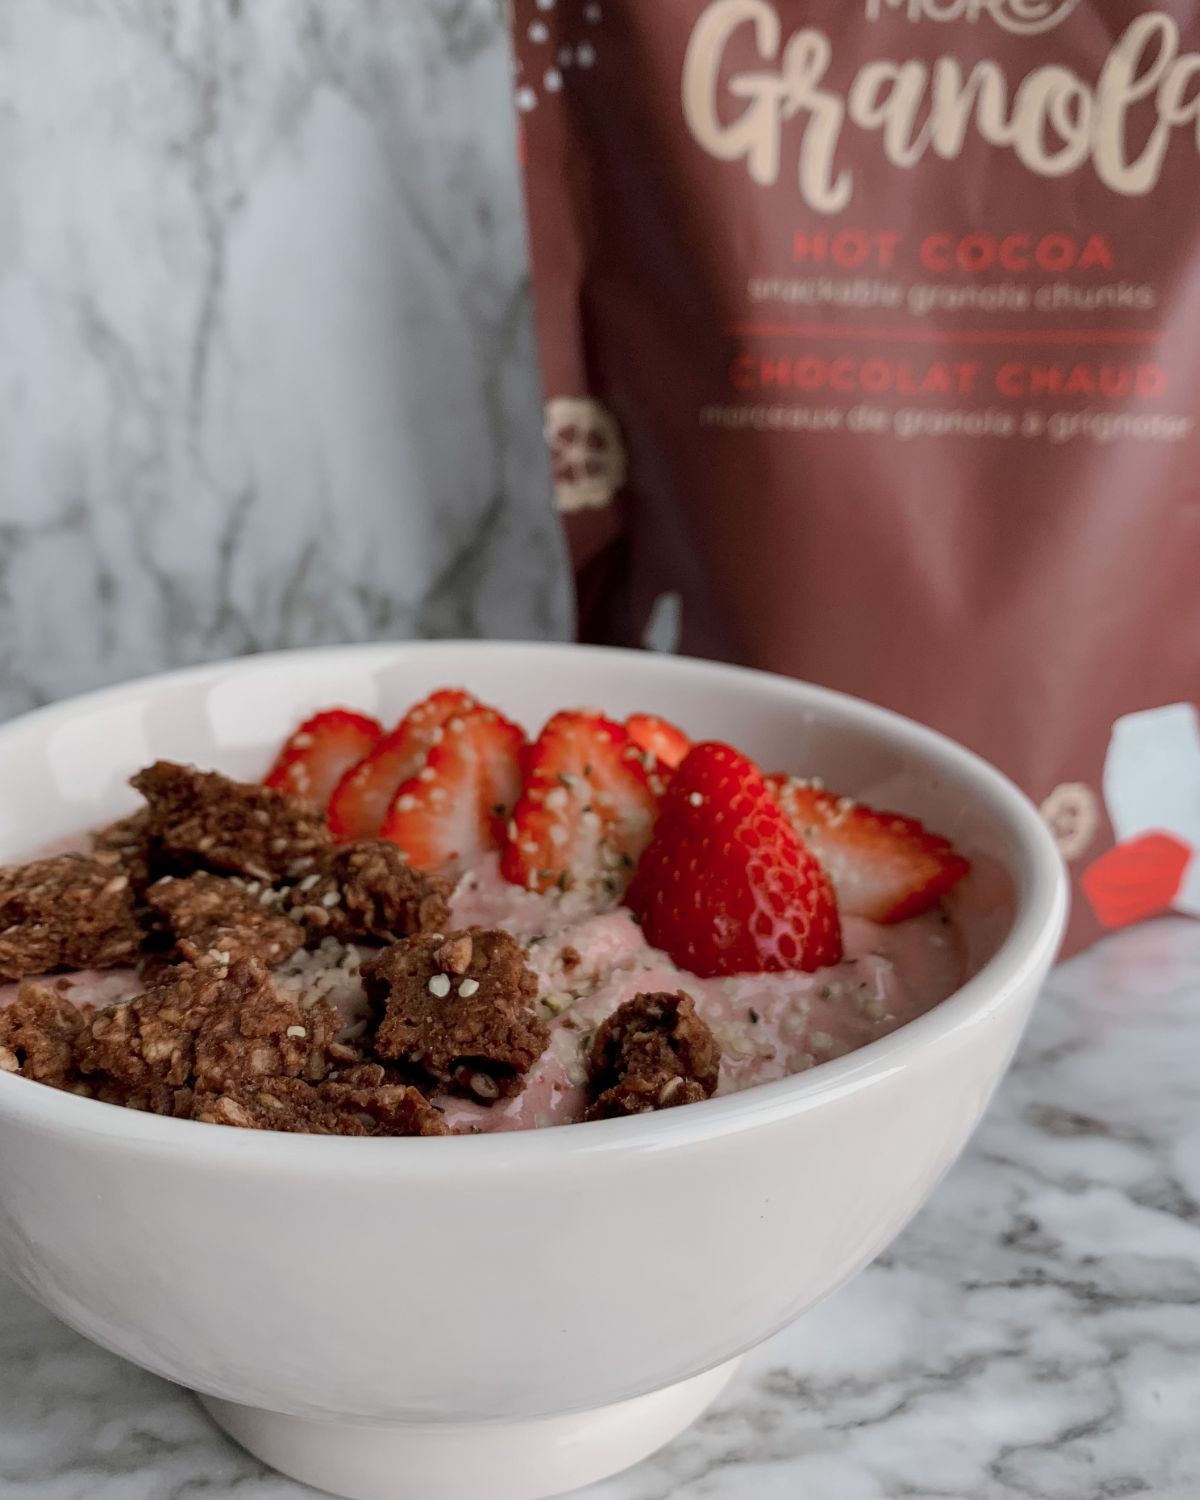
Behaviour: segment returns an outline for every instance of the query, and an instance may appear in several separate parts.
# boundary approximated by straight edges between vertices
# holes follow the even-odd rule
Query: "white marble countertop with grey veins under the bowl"
[[[590,1500],[1196,1500],[1200,924],[1064,966],[891,1251]],[[303,1500],[0,1282],[4,1500]],[[486,1500],[486,1497],[482,1497]]]

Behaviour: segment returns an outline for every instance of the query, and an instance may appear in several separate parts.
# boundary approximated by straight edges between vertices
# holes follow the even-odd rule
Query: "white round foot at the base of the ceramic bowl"
[[[534,1422],[322,1422],[201,1396],[236,1443],[344,1500],[543,1500],[628,1468],[716,1401],[741,1360],[648,1396]]]

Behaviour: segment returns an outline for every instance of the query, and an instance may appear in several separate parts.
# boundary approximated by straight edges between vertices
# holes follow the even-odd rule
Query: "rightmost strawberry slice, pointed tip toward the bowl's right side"
[[[768,776],[766,784],[825,867],[846,916],[920,916],[970,868],[946,838],[914,818],[879,813],[796,777]]]

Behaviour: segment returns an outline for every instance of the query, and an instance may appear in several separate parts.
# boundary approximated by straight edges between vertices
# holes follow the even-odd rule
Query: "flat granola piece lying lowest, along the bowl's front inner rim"
[[[264,1078],[198,1094],[192,1119],[309,1136],[448,1136],[438,1110],[404,1083],[304,1083]]]

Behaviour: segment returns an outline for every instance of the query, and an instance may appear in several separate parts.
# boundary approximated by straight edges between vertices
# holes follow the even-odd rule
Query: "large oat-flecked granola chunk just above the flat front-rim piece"
[[[280,994],[255,960],[178,964],[144,994],[96,1012],[80,1068],[99,1098],[180,1113],[194,1089],[321,1078],[332,1064],[357,1060],[334,1041],[339,1024],[332,1006],[303,1008]]]

